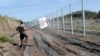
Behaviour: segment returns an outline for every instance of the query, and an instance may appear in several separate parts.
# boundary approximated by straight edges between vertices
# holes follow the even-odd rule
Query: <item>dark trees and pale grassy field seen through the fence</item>
[[[65,18],[65,26],[66,29],[70,28],[70,16],[71,14],[66,14],[64,15]],[[74,24],[74,30],[83,30],[82,27],[82,11],[75,11],[72,12],[72,17],[73,17],[73,24]],[[85,18],[86,18],[86,31],[89,32],[100,32],[100,11],[94,12],[94,11],[89,11],[85,10]],[[54,18],[56,20],[56,18]],[[62,25],[62,17],[59,16],[59,21],[60,24]]]

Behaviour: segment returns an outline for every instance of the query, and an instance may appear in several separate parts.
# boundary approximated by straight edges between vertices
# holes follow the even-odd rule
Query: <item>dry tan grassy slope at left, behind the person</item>
[[[0,34],[10,35],[15,32],[15,28],[18,25],[18,20],[0,15]]]

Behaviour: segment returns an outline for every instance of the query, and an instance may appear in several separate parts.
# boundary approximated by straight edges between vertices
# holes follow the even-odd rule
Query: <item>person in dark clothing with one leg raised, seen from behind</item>
[[[23,21],[20,21],[20,25],[16,28],[16,30],[20,33],[20,47],[22,48],[24,43],[27,43],[28,41],[28,35],[25,32],[28,30],[28,28],[24,25]]]

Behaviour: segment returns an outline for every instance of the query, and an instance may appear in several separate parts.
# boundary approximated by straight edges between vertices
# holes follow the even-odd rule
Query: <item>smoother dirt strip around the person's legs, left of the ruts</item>
[[[27,31],[28,34],[28,43],[25,48],[19,48],[20,46],[20,39],[19,39],[19,34],[15,35],[13,37],[13,46],[15,47],[16,50],[16,55],[15,56],[43,56],[43,54],[38,50],[32,32],[31,30]]]

